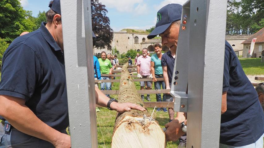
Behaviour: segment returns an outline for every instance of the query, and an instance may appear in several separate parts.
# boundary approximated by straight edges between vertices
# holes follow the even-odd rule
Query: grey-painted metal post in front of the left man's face
[[[61,12],[71,147],[96,148],[91,2],[61,0]]]

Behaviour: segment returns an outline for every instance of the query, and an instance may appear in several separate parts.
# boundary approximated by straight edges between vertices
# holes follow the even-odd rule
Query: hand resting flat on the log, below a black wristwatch
[[[118,113],[124,113],[126,111],[130,111],[131,109],[137,109],[140,111],[145,111],[146,109],[143,108],[142,106],[133,104],[133,103],[117,103],[117,102],[112,102],[110,105],[111,109],[116,110]]]

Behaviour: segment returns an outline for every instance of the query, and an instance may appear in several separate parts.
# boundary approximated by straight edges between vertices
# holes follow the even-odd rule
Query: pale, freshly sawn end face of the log
[[[165,148],[165,134],[156,121],[126,116],[117,125],[112,148]]]

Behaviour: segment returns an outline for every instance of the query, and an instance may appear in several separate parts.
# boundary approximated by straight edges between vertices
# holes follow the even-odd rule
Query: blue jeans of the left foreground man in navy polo
[[[66,134],[66,129],[60,131]],[[24,134],[19,130],[12,128],[7,132],[3,130],[3,125],[0,123],[0,148],[53,148],[53,144]]]

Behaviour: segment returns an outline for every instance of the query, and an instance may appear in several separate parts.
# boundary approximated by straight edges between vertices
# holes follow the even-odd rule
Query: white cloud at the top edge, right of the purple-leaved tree
[[[135,4],[141,4],[143,0],[99,0],[103,5],[109,8],[116,8],[120,12],[134,11]]]

